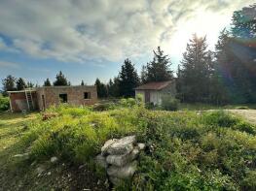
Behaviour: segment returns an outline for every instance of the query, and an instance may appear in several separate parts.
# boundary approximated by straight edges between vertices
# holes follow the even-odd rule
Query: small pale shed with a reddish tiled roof
[[[149,82],[135,88],[135,95],[142,95],[145,103],[161,105],[163,95],[175,96],[174,80]]]

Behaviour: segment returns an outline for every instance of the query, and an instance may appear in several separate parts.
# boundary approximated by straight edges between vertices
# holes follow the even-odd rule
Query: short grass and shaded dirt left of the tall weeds
[[[103,180],[100,182],[85,167],[14,157],[29,151],[22,138],[38,116],[39,113],[0,112],[0,190],[104,190]],[[41,175],[40,169],[44,170]]]

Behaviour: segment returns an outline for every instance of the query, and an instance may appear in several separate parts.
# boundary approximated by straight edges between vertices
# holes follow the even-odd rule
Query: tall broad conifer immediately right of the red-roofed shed
[[[178,95],[185,102],[209,101],[212,75],[212,52],[207,51],[206,38],[196,34],[183,53],[178,74]]]

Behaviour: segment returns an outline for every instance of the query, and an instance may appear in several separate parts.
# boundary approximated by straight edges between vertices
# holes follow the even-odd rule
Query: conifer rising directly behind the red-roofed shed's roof
[[[169,69],[171,63],[168,55],[165,55],[160,47],[158,47],[157,51],[154,50],[153,52],[153,61],[147,63],[146,68],[142,70],[142,80],[144,82],[172,80],[173,72]]]

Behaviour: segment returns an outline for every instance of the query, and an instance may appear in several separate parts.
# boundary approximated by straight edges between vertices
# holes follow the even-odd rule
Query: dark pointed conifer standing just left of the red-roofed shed
[[[120,95],[124,97],[134,97],[134,88],[139,84],[139,78],[134,65],[131,64],[128,58],[121,67],[119,80]]]

